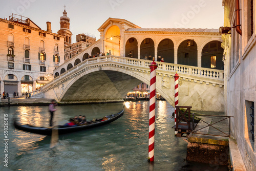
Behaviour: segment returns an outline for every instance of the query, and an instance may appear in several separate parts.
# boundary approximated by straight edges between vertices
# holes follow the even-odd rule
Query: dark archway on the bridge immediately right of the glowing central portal
[[[131,37],[126,41],[125,56],[138,58],[138,41],[136,38]]]

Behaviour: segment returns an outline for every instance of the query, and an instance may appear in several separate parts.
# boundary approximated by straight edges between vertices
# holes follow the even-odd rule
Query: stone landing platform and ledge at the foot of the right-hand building
[[[229,119],[233,118],[223,112],[195,112],[201,114],[201,120],[187,138],[186,159],[246,170],[236,140],[230,135]]]

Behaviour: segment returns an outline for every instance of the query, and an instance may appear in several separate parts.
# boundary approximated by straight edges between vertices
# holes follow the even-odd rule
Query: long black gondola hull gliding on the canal
[[[57,125],[54,127],[32,126],[29,124],[22,125],[19,122],[17,122],[16,120],[14,120],[14,126],[18,130],[27,131],[27,132],[35,133],[35,134],[41,134],[41,135],[52,135],[52,130],[57,129],[58,134],[61,135],[61,134],[73,133],[73,132],[87,130],[87,129],[91,129],[93,127],[105,125],[105,124],[108,124],[108,123],[111,123],[111,122],[117,120],[122,115],[123,115],[123,110],[116,114],[106,116],[107,118],[109,118],[108,120],[102,120],[103,118],[94,119],[91,121],[87,121],[86,125],[72,126],[72,127],[66,127],[64,125]]]

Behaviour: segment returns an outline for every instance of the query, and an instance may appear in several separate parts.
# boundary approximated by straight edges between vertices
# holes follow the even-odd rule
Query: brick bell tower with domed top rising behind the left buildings
[[[67,16],[66,6],[64,6],[63,16],[60,17],[60,30],[57,32],[59,35],[65,36],[65,46],[72,44],[72,32],[69,30],[69,17]]]

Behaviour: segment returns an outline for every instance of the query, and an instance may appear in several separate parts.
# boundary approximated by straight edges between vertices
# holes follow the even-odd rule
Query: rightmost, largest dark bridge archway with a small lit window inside
[[[214,40],[208,42],[202,50],[202,67],[224,70],[223,52],[221,41]]]

